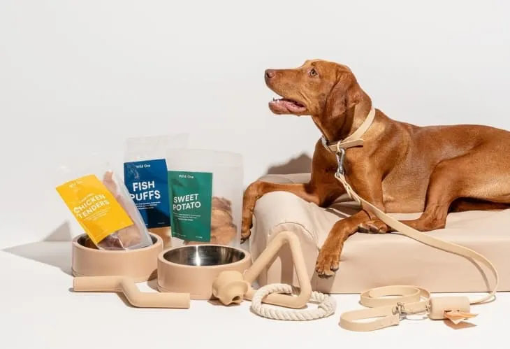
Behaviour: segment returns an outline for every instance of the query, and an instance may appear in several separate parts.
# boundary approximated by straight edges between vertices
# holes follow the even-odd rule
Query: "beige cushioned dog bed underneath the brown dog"
[[[305,183],[309,174],[268,175],[273,183]],[[254,259],[261,254],[273,234],[290,230],[300,237],[303,253],[316,291],[359,293],[385,285],[416,285],[430,292],[489,292],[494,278],[484,266],[465,257],[431,248],[398,234],[356,233],[344,244],[340,269],[333,278],[321,279],[314,273],[319,248],[337,220],[356,213],[349,197],[341,197],[330,208],[309,204],[288,192],[265,194],[256,203],[249,250]],[[417,214],[395,214],[394,218],[416,218]],[[499,291],[510,290],[510,210],[451,213],[446,228],[432,234],[464,245],[487,257],[500,274]],[[260,285],[298,285],[291,255],[282,250]]]

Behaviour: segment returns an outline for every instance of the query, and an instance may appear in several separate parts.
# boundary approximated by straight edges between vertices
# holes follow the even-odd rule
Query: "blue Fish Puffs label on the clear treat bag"
[[[165,159],[125,162],[124,183],[147,229],[170,227]]]

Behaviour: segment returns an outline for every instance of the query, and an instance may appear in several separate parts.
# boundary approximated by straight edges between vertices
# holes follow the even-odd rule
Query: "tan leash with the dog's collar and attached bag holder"
[[[354,199],[360,205],[364,204],[365,207],[367,206],[370,208],[377,218],[400,234],[425,243],[426,245],[430,245],[431,247],[474,259],[476,262],[480,262],[488,267],[495,276],[495,285],[486,297],[476,300],[469,300],[468,297],[431,297],[430,292],[427,290],[410,285],[393,285],[373,288],[360,294],[360,304],[367,308],[343,313],[340,315],[339,325],[350,331],[367,332],[398,325],[400,320],[402,320],[405,315],[409,314],[426,314],[432,320],[449,319],[454,323],[472,318],[475,315],[469,313],[471,305],[482,304],[490,299],[495,299],[497,286],[500,282],[495,266],[486,259],[486,257],[483,257],[483,255],[480,255],[474,250],[457,245],[456,243],[435,238],[430,234],[419,232],[395,220],[395,218],[387,215],[377,208],[377,206],[370,204],[370,202],[356,194],[349,183],[347,183],[344,176],[345,150],[363,146],[363,139],[361,136],[370,128],[374,117],[375,109],[372,108],[363,124],[361,124],[353,134],[342,141],[327,143],[326,139],[324,137],[322,138],[324,147],[330,152],[334,152],[337,157],[338,168],[335,173],[335,178],[342,183],[351,199]],[[399,297],[388,298],[387,296]],[[377,318],[377,320],[371,322],[357,322],[357,320],[371,318]]]

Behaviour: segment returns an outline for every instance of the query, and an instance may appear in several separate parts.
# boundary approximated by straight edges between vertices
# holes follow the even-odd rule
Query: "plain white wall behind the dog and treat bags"
[[[98,149],[121,162],[129,136],[241,152],[245,184],[311,156],[319,132],[270,113],[266,68],[330,59],[395,119],[510,129],[508,13],[505,0],[1,0],[0,247],[77,234],[58,230],[55,167]]]

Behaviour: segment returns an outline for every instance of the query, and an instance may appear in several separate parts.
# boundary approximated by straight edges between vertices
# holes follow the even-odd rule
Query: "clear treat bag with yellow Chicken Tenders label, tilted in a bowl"
[[[152,245],[129,192],[108,164],[71,178],[56,189],[87,233],[87,247],[134,250]]]

